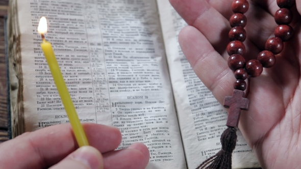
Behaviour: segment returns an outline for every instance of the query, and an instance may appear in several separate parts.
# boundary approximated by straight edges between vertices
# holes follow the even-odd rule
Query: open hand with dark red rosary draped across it
[[[234,73],[226,47],[233,0],[170,0],[189,24],[179,35],[180,45],[196,75],[222,103],[231,96]],[[276,0],[253,0],[245,13],[246,61],[256,59],[273,37],[277,24]],[[291,9],[294,37],[276,55],[276,64],[256,78],[248,78],[248,111],[242,111],[239,128],[256,152],[263,168],[301,168],[301,0]]]

